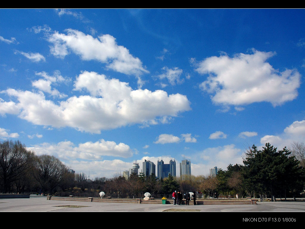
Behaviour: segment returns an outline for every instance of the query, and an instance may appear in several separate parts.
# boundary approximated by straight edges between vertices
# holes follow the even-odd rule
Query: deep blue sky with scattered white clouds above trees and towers
[[[303,9],[1,9],[0,139],[77,173],[304,141]]]

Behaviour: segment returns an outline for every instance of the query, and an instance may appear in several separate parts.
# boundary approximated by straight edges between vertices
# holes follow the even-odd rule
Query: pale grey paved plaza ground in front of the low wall
[[[63,205],[80,205],[66,208]],[[0,199],[1,212],[162,212],[166,209],[200,209],[201,212],[305,212],[305,202],[258,202],[257,205],[171,205],[127,204],[27,199]],[[302,213],[303,214],[303,213]],[[288,217],[289,214],[287,214]]]

